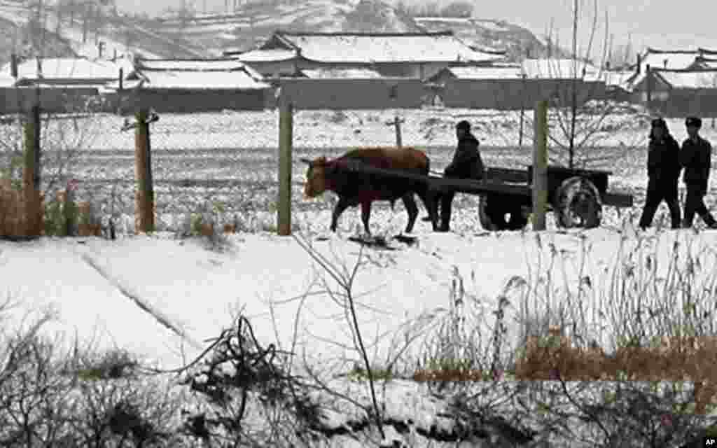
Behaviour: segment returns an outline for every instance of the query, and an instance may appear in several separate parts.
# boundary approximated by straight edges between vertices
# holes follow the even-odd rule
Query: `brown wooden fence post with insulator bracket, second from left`
[[[135,129],[135,232],[154,230],[154,188],[152,185],[151,146],[149,140],[148,110],[136,113]]]

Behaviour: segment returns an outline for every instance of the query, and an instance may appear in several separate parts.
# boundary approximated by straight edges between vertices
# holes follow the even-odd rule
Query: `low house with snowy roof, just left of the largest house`
[[[272,86],[236,59],[136,59],[133,70],[105,89],[120,113],[262,110]]]

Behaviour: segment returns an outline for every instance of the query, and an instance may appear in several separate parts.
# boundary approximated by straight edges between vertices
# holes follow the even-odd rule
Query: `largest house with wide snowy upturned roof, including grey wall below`
[[[438,33],[277,31],[258,49],[225,52],[265,75],[302,109],[419,108],[425,77],[503,58]]]

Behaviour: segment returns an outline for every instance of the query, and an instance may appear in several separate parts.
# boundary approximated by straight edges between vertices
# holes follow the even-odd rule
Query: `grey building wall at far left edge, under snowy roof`
[[[87,101],[98,97],[94,87],[42,87],[40,107],[47,113],[85,110]],[[35,87],[0,87],[0,114],[29,111],[37,98]]]

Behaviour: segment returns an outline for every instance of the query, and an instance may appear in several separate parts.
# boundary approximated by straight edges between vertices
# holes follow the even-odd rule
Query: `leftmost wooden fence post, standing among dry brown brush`
[[[24,221],[25,234],[39,236],[42,219],[39,213],[40,190],[40,108],[32,106],[24,125],[25,160],[22,173],[22,186],[24,192]]]

